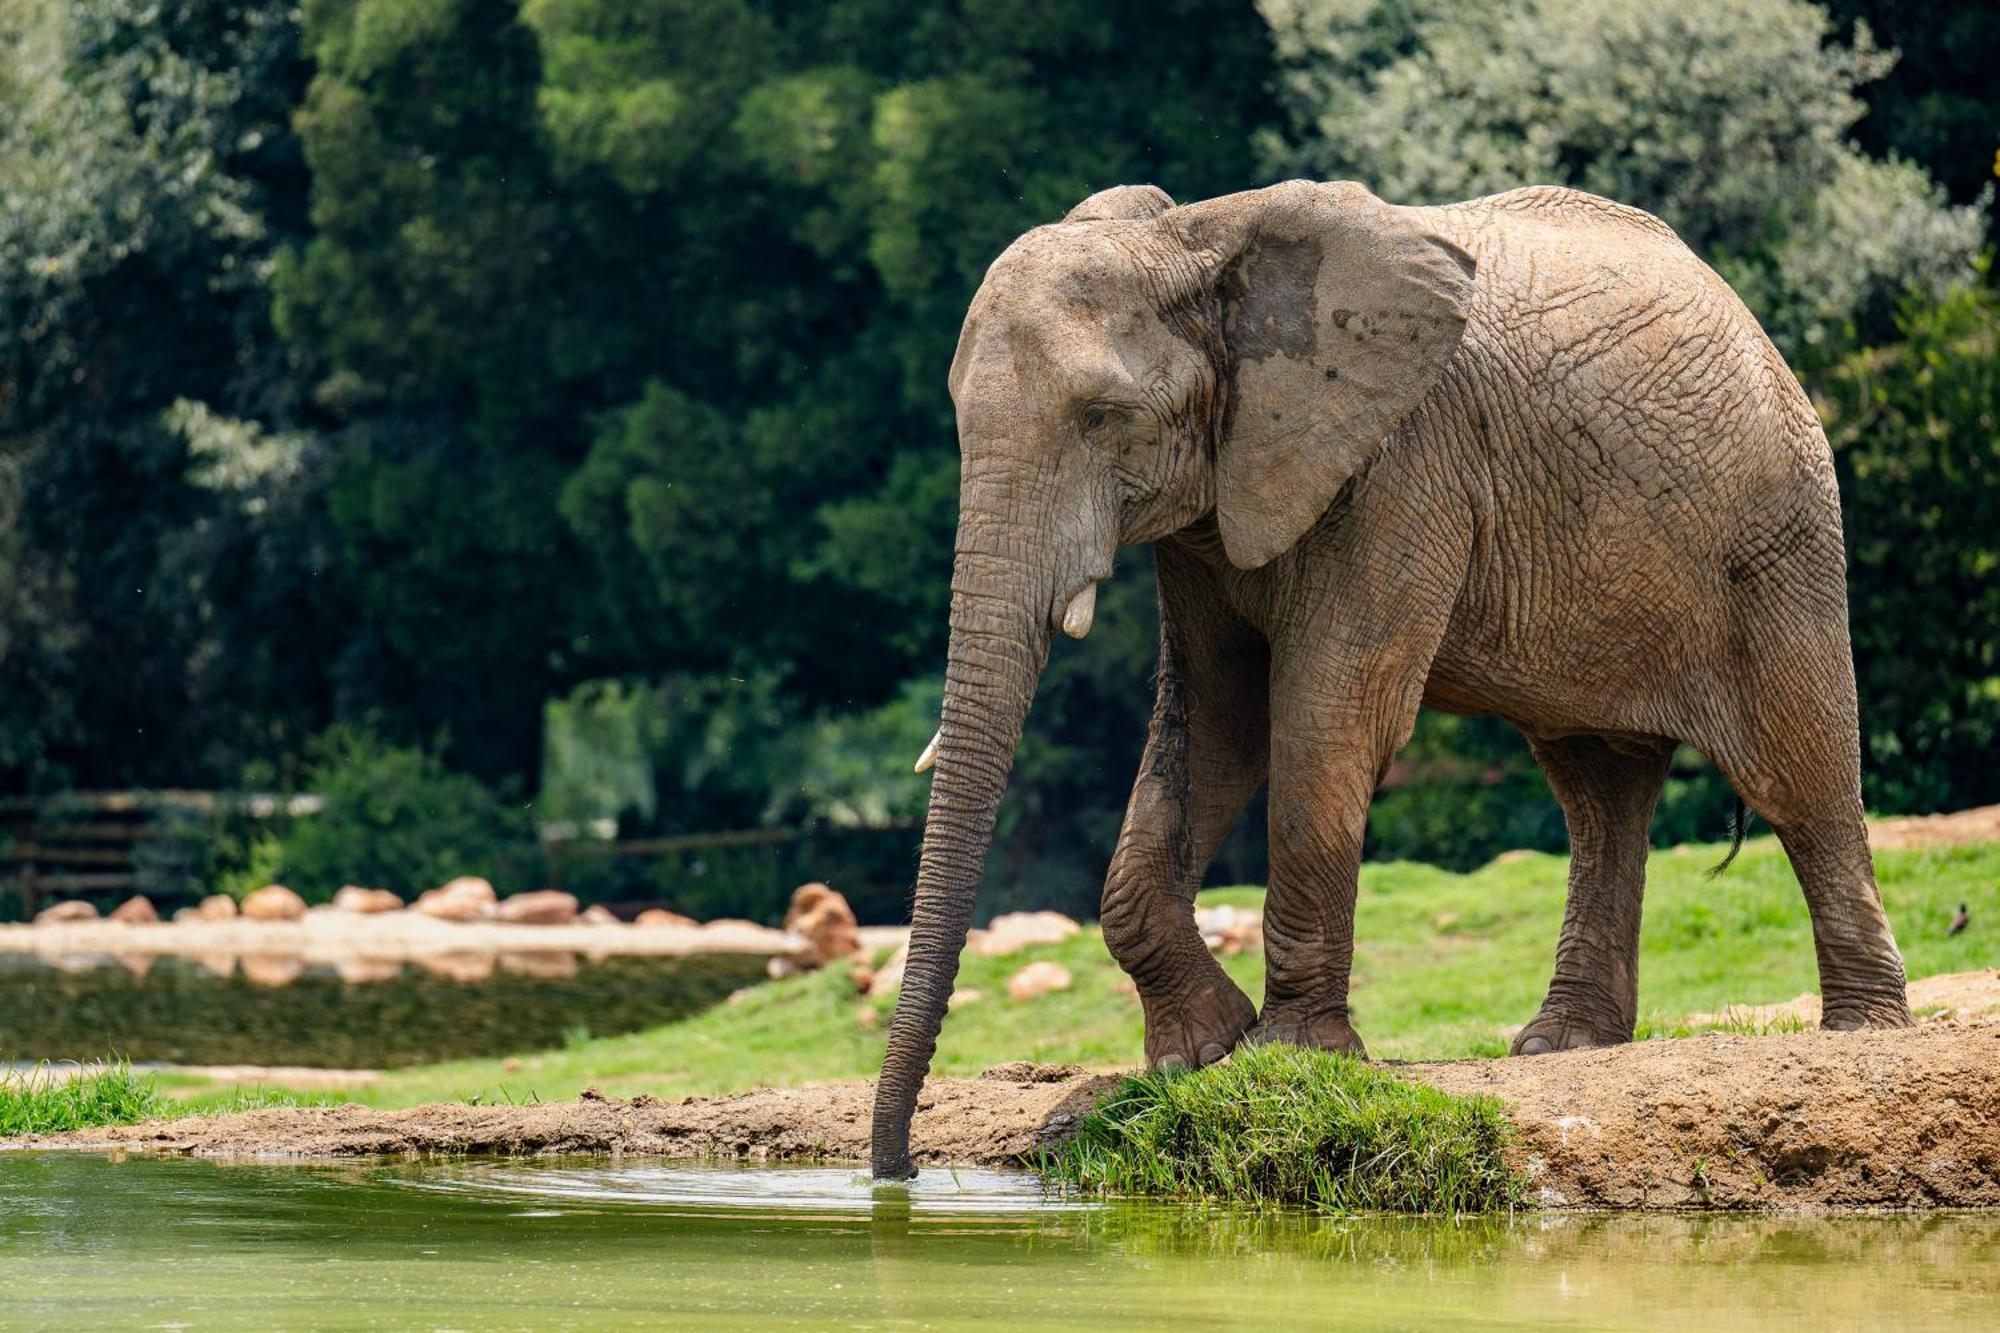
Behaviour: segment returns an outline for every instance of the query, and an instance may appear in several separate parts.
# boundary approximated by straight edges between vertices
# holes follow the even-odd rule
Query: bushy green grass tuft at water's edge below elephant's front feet
[[[1256,1045],[1206,1069],[1126,1079],[1038,1167],[1110,1193],[1492,1213],[1520,1203],[1508,1135],[1492,1097],[1454,1097],[1328,1051]]]

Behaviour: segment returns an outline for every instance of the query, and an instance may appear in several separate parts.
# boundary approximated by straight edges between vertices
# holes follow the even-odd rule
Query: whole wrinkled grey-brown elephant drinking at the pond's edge
[[[1910,1023],[1862,821],[1832,454],[1782,354],[1670,226],[1570,188],[1394,206],[1292,180],[1092,194],[1014,240],[948,376],[960,514],[912,937],[872,1169],[914,1175],[980,869],[1054,632],[1150,542],[1160,669],[1102,931],[1146,1063],[1362,1055],[1368,803],[1420,705],[1526,735],[1570,835],[1516,1055],[1630,1041],[1648,827],[1676,747],[1778,835],[1828,1029]],[[1268,789],[1262,1009],[1196,935]]]

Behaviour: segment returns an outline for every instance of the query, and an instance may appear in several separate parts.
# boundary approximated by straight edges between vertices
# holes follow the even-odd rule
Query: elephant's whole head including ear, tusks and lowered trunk
[[[962,456],[944,717],[910,955],[876,1085],[876,1177],[914,1175],[980,867],[1054,630],[1090,632],[1118,546],[1214,514],[1294,546],[1438,380],[1472,258],[1358,184],[1176,208],[1092,194],[994,260],[952,360]]]

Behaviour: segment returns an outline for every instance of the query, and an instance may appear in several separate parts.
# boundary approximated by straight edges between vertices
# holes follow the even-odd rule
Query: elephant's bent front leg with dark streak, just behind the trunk
[[[1268,652],[1160,552],[1160,687],[1104,879],[1104,943],[1146,1009],[1146,1067],[1220,1061],[1256,1019],[1194,929],[1194,893],[1264,785]]]

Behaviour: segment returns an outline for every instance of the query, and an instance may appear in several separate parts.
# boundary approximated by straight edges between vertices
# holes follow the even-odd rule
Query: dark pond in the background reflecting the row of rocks
[[[282,959],[0,959],[0,1063],[118,1053],[168,1065],[394,1069],[616,1037],[764,979],[764,959],[728,955],[446,963],[454,975],[390,963],[342,977]]]

